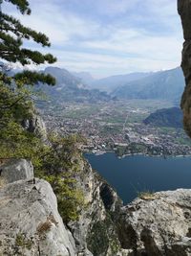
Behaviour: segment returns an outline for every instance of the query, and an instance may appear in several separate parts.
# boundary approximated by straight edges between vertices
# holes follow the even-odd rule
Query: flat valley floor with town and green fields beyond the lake
[[[172,106],[159,100],[128,100],[49,104],[40,112],[48,129],[87,138],[84,151],[116,151],[118,156],[190,155],[191,142],[182,128],[152,127],[142,122],[157,109]]]

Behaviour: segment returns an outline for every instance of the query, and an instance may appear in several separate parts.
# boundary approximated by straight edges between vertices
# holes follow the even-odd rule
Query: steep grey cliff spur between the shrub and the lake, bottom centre
[[[122,255],[116,226],[122,202],[117,193],[84,160],[75,178],[85,200],[79,220],[69,223],[78,252],[83,256]]]

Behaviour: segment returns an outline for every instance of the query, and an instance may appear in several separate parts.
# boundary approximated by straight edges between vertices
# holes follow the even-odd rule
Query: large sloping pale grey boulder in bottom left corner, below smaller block
[[[76,255],[53,189],[44,180],[20,180],[0,189],[0,226],[0,255]]]

